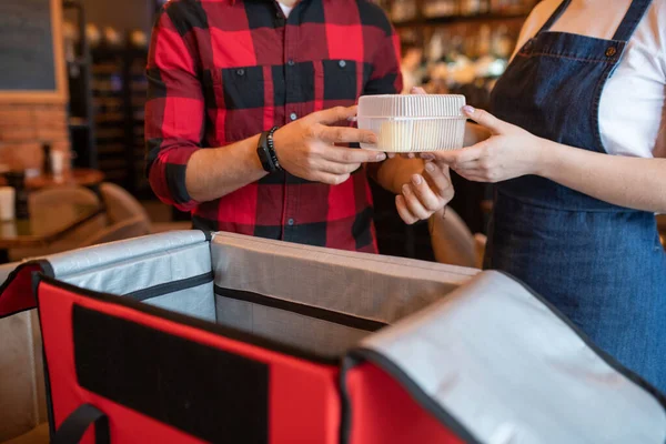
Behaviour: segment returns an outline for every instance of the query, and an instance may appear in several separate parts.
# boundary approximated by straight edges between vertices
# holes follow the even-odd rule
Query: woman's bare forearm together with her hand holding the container
[[[428,153],[463,178],[503,182],[536,174],[619,206],[666,213],[666,159],[608,155],[563,145],[464,107],[492,137],[462,150]],[[467,125],[470,138],[476,129]],[[466,134],[467,135],[467,134]]]

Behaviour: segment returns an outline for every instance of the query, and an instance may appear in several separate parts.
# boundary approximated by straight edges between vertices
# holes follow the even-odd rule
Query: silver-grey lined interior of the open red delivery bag
[[[335,359],[473,273],[413,262],[225,234],[57,278]]]

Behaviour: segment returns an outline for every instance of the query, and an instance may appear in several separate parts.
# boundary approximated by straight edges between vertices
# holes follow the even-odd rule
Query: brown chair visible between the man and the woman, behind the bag
[[[486,238],[472,234],[465,222],[451,208],[444,218],[432,216],[428,220],[431,242],[435,259],[450,265],[481,269]]]

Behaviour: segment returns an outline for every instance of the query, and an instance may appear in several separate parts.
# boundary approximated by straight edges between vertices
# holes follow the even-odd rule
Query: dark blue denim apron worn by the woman
[[[650,0],[632,2],[613,40],[547,32],[569,3],[516,54],[493,91],[492,111],[541,138],[605,154],[602,90]],[[485,261],[526,282],[666,392],[666,253],[653,213],[539,176],[505,181],[497,184]]]

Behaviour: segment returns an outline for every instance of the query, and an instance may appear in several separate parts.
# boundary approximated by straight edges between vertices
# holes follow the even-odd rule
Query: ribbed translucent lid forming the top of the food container
[[[360,118],[462,117],[465,97],[460,94],[383,94],[359,99]]]

